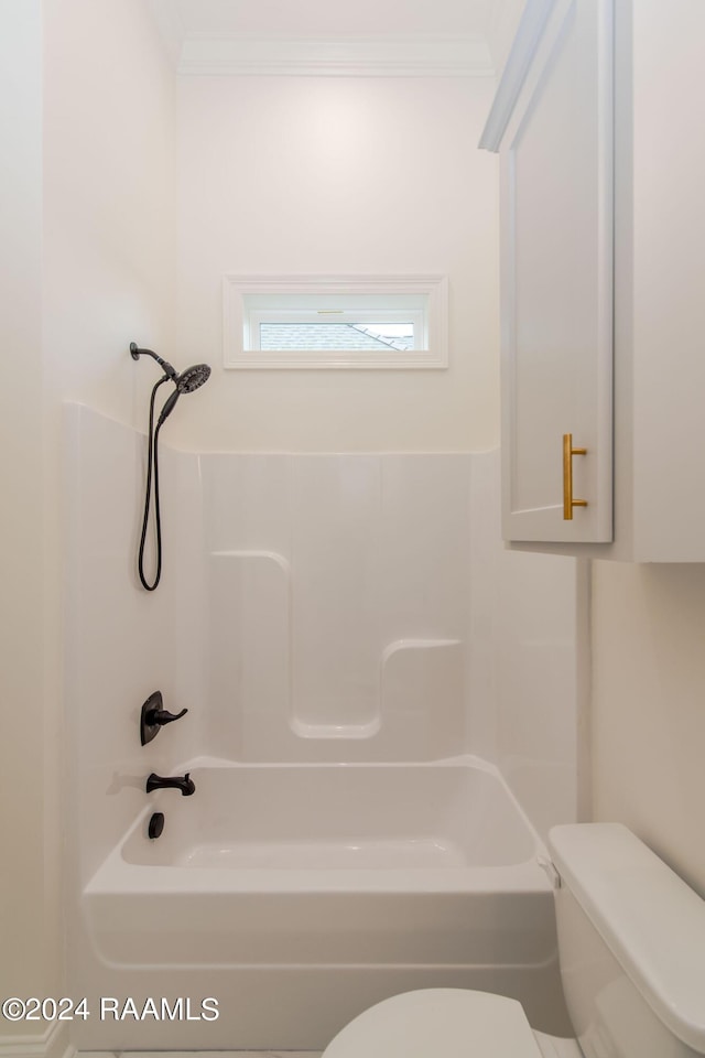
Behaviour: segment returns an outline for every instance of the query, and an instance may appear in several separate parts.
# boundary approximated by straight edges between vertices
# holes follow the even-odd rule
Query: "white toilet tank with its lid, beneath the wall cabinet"
[[[619,823],[555,827],[550,846],[585,1058],[705,1055],[705,900]]]

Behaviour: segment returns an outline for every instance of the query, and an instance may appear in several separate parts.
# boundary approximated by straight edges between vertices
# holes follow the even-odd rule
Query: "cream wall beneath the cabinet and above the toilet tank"
[[[619,820],[705,896],[705,569],[596,562],[595,818]]]

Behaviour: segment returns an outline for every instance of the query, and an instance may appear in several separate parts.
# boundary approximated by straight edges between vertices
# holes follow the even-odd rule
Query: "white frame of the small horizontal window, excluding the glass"
[[[246,309],[247,294],[326,296],[389,294],[391,298],[398,294],[422,295],[425,299],[423,310],[400,309],[393,304],[392,300],[389,312],[375,310],[373,315],[379,322],[382,316],[398,315],[400,311],[406,317],[419,311],[423,312],[422,333],[426,348],[394,349],[390,347],[388,350],[245,348],[245,335],[249,334],[248,316],[258,314],[258,310],[248,312]],[[241,276],[228,273],[223,280],[223,359],[226,369],[437,370],[448,366],[447,278],[445,276]],[[272,322],[272,314],[275,311],[267,310]],[[282,312],[282,317],[291,320],[299,311],[311,312],[311,310],[289,307]],[[358,317],[358,322],[362,322],[361,312],[354,314]]]

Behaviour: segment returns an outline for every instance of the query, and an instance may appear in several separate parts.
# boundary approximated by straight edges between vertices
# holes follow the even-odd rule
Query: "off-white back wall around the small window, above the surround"
[[[476,150],[492,90],[489,78],[181,78],[176,347],[214,376],[177,443],[497,444],[497,173]],[[447,273],[451,367],[225,371],[226,271]]]

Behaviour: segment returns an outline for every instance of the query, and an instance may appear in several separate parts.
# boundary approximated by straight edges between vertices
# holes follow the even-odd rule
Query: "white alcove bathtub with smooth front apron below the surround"
[[[96,1011],[188,998],[192,1017],[94,1016],[80,1048],[319,1050],[427,986],[502,992],[534,1027],[567,1029],[544,851],[491,766],[184,770],[195,795],[159,791],[84,888],[72,992]],[[197,1017],[206,997],[217,1019]]]

